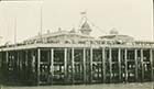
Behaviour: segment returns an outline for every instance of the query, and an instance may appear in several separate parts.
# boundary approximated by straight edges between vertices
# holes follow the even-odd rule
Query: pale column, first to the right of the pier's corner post
[[[53,78],[54,78],[54,48],[51,48],[51,82],[53,85]]]

